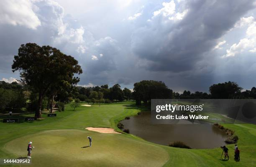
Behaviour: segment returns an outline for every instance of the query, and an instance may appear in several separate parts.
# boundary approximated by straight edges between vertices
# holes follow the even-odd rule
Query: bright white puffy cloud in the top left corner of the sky
[[[0,23],[36,29],[41,25],[30,0],[0,0]]]

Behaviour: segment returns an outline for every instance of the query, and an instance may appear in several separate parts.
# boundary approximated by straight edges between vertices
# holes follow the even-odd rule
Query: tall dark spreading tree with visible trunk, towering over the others
[[[46,91],[60,82],[76,84],[79,82],[74,73],[82,73],[78,61],[72,56],[61,53],[51,46],[38,46],[36,43],[21,45],[18,55],[14,56],[13,72],[20,71],[23,83],[38,92],[38,107],[35,116],[41,117],[42,100]]]

